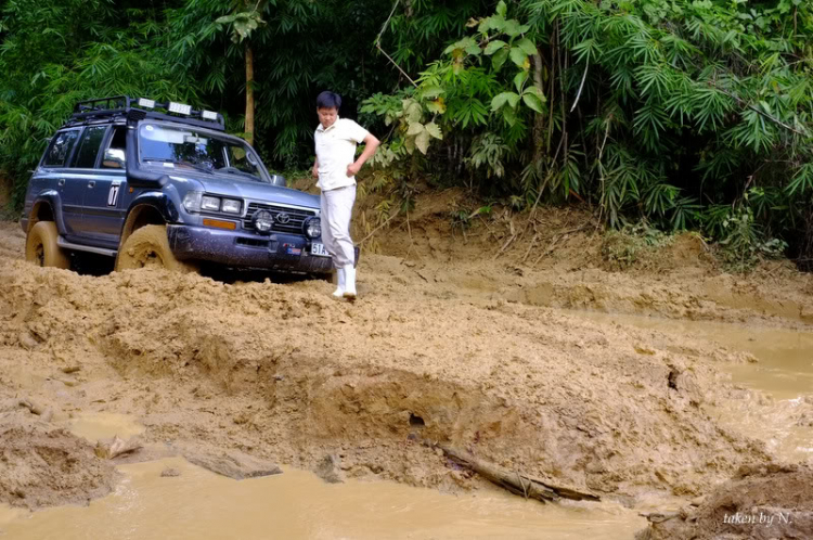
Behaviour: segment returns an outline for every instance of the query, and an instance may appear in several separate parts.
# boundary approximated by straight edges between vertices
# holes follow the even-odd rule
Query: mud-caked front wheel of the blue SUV
[[[144,226],[130,234],[116,256],[116,271],[164,268],[172,272],[195,272],[197,268],[175,258],[166,226]]]

